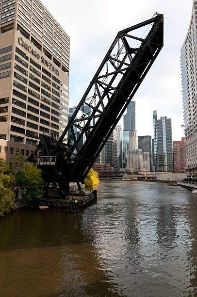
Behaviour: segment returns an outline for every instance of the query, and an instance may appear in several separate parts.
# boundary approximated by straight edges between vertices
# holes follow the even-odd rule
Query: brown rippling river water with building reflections
[[[79,214],[0,219],[0,297],[197,296],[197,195],[142,181],[97,189]]]

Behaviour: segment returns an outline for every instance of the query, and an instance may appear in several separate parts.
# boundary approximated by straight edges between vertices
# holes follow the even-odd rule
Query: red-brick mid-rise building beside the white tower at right
[[[173,141],[174,171],[186,170],[186,143],[185,137],[180,141]]]

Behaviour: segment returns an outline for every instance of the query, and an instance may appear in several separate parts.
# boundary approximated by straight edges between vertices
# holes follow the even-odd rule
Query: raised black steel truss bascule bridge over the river
[[[144,33],[144,34],[143,34]],[[58,139],[43,134],[29,161],[37,161],[49,189],[62,198],[69,182],[83,181],[164,45],[164,15],[120,31]]]

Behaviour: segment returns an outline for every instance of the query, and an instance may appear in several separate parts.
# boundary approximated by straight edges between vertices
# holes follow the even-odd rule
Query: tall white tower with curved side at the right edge
[[[197,173],[197,1],[193,0],[189,29],[181,48],[183,113],[186,138],[186,171]]]

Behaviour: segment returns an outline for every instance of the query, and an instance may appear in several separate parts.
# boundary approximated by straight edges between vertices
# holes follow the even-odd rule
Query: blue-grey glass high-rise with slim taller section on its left
[[[173,171],[171,118],[153,111],[155,171]]]

